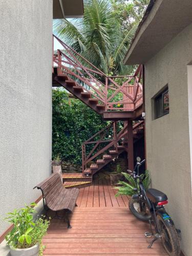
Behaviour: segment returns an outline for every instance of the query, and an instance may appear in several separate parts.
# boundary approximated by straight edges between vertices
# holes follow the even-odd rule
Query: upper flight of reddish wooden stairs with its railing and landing
[[[53,38],[63,48],[53,52],[53,87],[65,88],[105,120],[135,119],[141,115],[141,65],[133,75],[107,76],[58,37]]]

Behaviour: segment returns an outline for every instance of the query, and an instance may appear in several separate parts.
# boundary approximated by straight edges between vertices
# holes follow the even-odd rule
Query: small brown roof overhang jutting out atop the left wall
[[[53,18],[82,18],[83,0],[53,0]]]

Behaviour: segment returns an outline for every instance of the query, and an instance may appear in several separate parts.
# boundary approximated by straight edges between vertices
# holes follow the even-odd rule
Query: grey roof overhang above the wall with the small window
[[[151,6],[150,6],[151,5]],[[144,64],[192,23],[192,0],[151,0],[124,64]]]

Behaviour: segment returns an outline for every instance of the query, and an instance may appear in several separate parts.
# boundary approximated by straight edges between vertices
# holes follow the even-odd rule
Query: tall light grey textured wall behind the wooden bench
[[[51,173],[52,0],[0,5],[0,232]]]

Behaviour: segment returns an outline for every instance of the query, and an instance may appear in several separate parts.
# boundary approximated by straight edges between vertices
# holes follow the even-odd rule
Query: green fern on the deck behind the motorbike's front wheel
[[[127,173],[122,173],[127,182],[125,181],[119,181],[118,185],[121,185],[119,187],[116,187],[118,189],[118,192],[116,193],[116,197],[120,195],[127,195],[132,196],[135,194],[134,188],[139,188],[139,180],[137,182],[134,180],[134,178]],[[141,175],[142,183],[145,189],[147,189],[151,184],[151,178],[148,173],[148,170],[145,170],[145,174]]]

